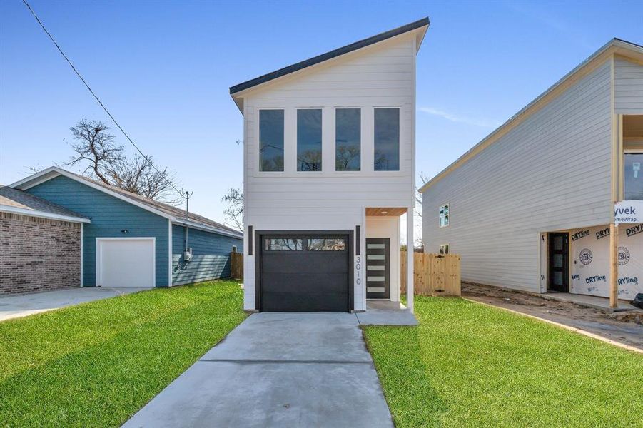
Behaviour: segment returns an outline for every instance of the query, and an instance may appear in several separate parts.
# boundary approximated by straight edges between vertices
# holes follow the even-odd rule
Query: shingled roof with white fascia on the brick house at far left
[[[6,185],[0,185],[0,211],[78,223],[90,223],[89,218],[84,215]]]

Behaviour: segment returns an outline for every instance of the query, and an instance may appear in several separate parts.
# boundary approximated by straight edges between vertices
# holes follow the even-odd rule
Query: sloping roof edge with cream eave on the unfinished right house
[[[500,140],[502,136],[505,136],[509,131],[515,128],[515,126],[518,126],[520,123],[522,123],[522,121],[525,121],[526,118],[539,111],[540,108],[546,106],[547,103],[550,103],[557,96],[560,96],[563,91],[576,83],[579,78],[586,76],[587,73],[593,71],[595,68],[597,68],[597,66],[600,66],[602,63],[604,63],[604,61],[612,58],[612,56],[619,56],[629,59],[630,61],[643,63],[643,46],[632,43],[631,41],[625,41],[617,38],[608,41],[607,44],[604,44],[599,50],[589,56],[589,58],[580,63],[578,66],[576,66],[576,68],[574,68],[572,71],[569,71],[569,73],[563,76],[559,81],[550,86],[547,91],[541,93],[540,96],[535,98],[534,101],[527,104],[527,106],[523,107],[522,110],[520,110],[514,116],[510,117],[500,127],[496,128],[495,131],[492,131],[492,133],[483,138],[482,141],[477,143],[475,146],[470,148],[465,154],[460,156],[460,158],[457,158],[455,162],[440,171],[440,173],[435,175],[435,177],[427,181],[425,185],[422,185],[422,188],[420,188],[419,190],[420,193],[424,192],[432,185],[442,180],[442,178],[445,178],[448,174],[452,173],[457,168],[460,168],[460,166],[464,165],[467,161],[483,151],[485,148]]]

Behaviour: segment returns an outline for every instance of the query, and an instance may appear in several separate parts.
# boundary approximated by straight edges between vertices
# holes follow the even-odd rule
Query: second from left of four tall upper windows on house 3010
[[[321,170],[321,109],[297,111],[297,170]]]

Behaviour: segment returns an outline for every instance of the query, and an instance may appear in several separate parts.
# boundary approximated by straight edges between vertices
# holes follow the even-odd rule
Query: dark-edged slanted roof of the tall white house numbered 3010
[[[303,70],[303,68],[308,68],[310,66],[314,66],[315,64],[322,63],[324,61],[328,61],[329,59],[336,58],[338,56],[348,54],[349,52],[357,51],[358,49],[365,48],[366,46],[370,46],[373,44],[376,44],[380,41],[384,41],[386,39],[390,39],[395,36],[400,36],[400,34],[405,34],[408,33],[409,31],[414,31],[417,29],[422,29],[423,31],[420,32],[418,43],[417,43],[417,49],[420,49],[420,44],[422,43],[422,39],[424,38],[424,35],[426,33],[426,30],[429,26],[429,18],[425,17],[422,18],[418,21],[411,22],[410,24],[406,24],[403,26],[400,26],[396,29],[392,29],[389,31],[385,31],[380,34],[376,34],[375,36],[368,37],[367,39],[363,39],[360,41],[355,41],[355,43],[348,44],[346,46],[342,46],[341,48],[335,49],[330,52],[326,52],[325,54],[321,54],[318,56],[314,56],[313,58],[308,58],[305,61],[300,61],[298,63],[294,63],[293,65],[280,68],[277,71],[273,71],[268,74],[264,74],[263,76],[259,76],[257,78],[250,79],[249,81],[245,81],[243,83],[239,83],[238,85],[231,86],[230,88],[230,94],[233,96],[233,99],[236,100],[236,94],[245,91],[246,89],[253,88],[255,86],[258,86],[262,83],[266,83],[268,81],[273,81],[276,78],[280,78],[283,76],[287,76],[290,73],[295,73],[295,71],[300,71]],[[424,28],[425,27],[425,28]],[[239,103],[237,104],[239,106]],[[240,106],[241,109],[241,106]],[[243,113],[243,109],[242,109]]]

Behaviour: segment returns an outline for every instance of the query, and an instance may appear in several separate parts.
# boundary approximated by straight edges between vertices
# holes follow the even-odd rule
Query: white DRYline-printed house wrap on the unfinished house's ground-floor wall
[[[572,230],[570,292],[609,297],[609,226]],[[643,224],[619,225],[619,298],[643,292]]]

